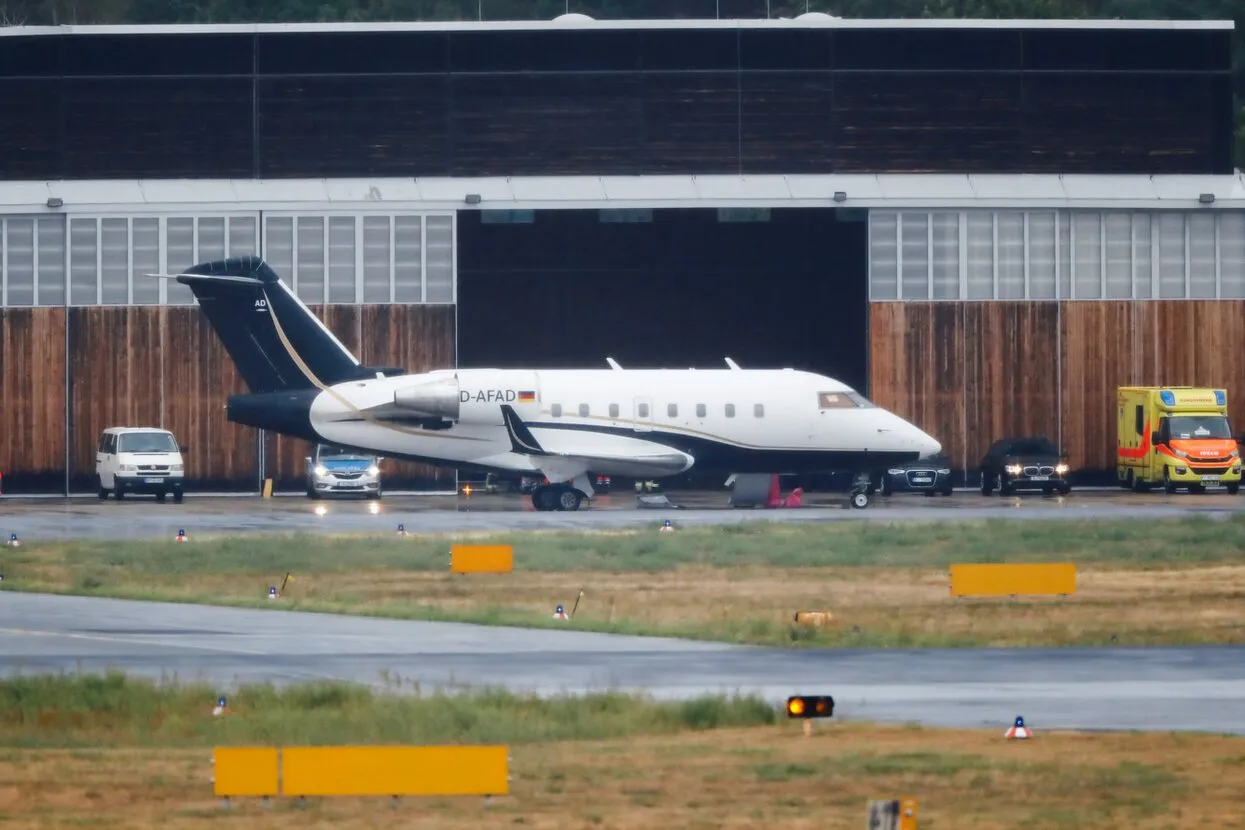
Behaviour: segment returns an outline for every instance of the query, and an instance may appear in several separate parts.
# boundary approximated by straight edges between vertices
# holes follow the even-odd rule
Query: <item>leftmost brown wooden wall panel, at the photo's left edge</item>
[[[0,309],[4,492],[65,490],[65,309]]]

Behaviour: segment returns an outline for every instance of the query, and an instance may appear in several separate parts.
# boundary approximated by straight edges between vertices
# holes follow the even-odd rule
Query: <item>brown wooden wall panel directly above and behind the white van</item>
[[[70,309],[68,340],[70,489],[90,490],[101,431],[162,423],[159,309]]]

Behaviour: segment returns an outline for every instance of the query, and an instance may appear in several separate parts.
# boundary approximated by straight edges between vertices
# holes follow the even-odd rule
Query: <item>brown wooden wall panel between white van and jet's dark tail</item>
[[[247,391],[238,370],[198,306],[161,314],[163,423],[189,447],[187,477],[204,489],[256,489],[256,432],[225,417],[225,398]]]

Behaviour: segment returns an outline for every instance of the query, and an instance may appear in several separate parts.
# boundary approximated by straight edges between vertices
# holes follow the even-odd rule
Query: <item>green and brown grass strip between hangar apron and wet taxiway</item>
[[[741,523],[515,533],[509,575],[453,576],[467,536],[250,536],[30,543],[5,590],[271,606],[425,620],[566,626],[789,646],[1056,646],[1245,642],[1245,519],[894,525]],[[952,562],[1078,565],[1069,597],[956,600]],[[798,627],[796,611],[833,625]]]

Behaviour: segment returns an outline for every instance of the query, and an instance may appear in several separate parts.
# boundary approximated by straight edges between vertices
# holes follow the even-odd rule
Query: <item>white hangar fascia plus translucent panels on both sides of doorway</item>
[[[1245,177],[640,175],[9,182],[0,306],[188,305],[144,276],[261,254],[309,304],[457,301],[457,217],[595,209],[868,214],[869,296],[1245,297]]]

